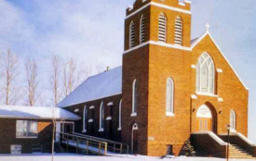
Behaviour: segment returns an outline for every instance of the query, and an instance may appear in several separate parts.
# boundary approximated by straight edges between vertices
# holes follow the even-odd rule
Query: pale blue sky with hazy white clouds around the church
[[[26,3],[25,3],[26,2]],[[0,0],[0,50],[40,60],[41,79],[49,57],[75,57],[88,64],[121,65],[124,19],[134,0]],[[256,142],[256,1],[192,0],[192,38],[210,24],[224,55],[249,87],[249,138]]]

